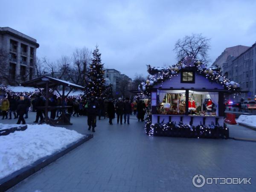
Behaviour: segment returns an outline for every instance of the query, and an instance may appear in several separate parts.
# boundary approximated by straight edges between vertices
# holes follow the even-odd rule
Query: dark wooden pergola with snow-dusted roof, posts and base
[[[52,77],[48,77],[48,76],[42,76],[36,79],[32,79],[29,81],[25,81],[23,83],[21,83],[22,86],[24,87],[35,87],[35,88],[44,88],[45,90],[45,106],[42,107],[42,109],[45,110],[45,123],[47,124],[51,124],[51,125],[72,125],[72,123],[70,123],[70,119],[67,118],[66,114],[65,114],[65,109],[69,108],[71,106],[64,106],[64,100],[66,99],[66,97],[69,95],[69,93],[73,90],[73,89],[79,89],[79,90],[84,90],[84,87],[81,87],[77,84],[73,84],[70,83],[69,81],[64,81],[64,80],[60,80],[60,79],[55,79]],[[57,87],[58,86],[62,86],[62,94],[58,91]],[[66,88],[69,87],[69,92],[65,95],[65,90]],[[55,107],[51,107],[49,106],[49,89],[55,90],[60,96],[61,96],[61,105],[62,106],[55,106]],[[58,119],[49,119],[48,117],[48,111],[54,110],[54,109],[59,109],[62,111],[61,116],[58,117]]]

